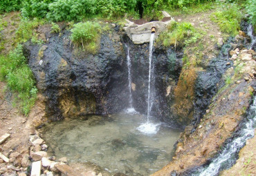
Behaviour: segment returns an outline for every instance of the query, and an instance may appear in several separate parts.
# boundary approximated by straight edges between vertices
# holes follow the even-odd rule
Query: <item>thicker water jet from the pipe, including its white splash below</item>
[[[152,92],[151,92],[152,52],[153,52],[154,35],[155,35],[155,33],[152,32],[152,34],[150,36],[150,42],[149,42],[149,84],[148,84],[148,90],[147,90],[147,122],[145,124],[140,125],[137,128],[138,130],[140,130],[140,132],[145,133],[147,135],[156,134],[159,129],[158,126],[160,125],[160,124],[153,124],[149,121],[152,104],[154,102],[154,98],[153,98]]]

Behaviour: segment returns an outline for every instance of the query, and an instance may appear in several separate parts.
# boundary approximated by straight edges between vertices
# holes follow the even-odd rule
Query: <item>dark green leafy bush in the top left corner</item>
[[[21,2],[21,0],[1,0],[0,13],[19,10]]]

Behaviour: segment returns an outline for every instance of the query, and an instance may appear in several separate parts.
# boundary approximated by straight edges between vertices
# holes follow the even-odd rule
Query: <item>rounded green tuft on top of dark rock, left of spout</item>
[[[95,54],[99,45],[101,26],[99,23],[87,21],[85,23],[76,23],[71,29],[71,41],[75,45],[82,46],[84,50]]]

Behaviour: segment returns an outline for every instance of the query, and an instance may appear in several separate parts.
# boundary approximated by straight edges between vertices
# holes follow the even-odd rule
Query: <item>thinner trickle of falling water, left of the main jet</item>
[[[129,47],[125,44],[127,48],[127,67],[128,67],[128,89],[129,89],[129,108],[126,110],[127,113],[135,113],[135,109],[132,106],[131,97],[131,58],[129,56]]]

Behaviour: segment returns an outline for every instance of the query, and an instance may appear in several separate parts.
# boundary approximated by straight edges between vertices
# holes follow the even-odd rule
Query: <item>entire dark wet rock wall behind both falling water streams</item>
[[[62,31],[61,37],[50,30],[45,34],[48,41],[43,46],[30,42],[24,45],[37,88],[46,97],[47,117],[57,120],[89,114],[107,115],[127,108],[125,43],[130,49],[133,106],[140,113],[147,111],[148,43],[134,45],[127,35],[120,35],[118,29],[112,29],[101,36],[98,53],[89,55],[73,46],[67,30]],[[182,53],[176,54],[171,48],[156,48],[153,57],[156,91],[152,115],[172,121],[166,97],[172,96],[179,78]],[[174,60],[170,61],[170,57]]]

